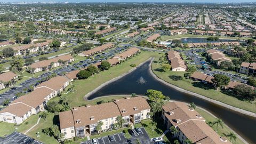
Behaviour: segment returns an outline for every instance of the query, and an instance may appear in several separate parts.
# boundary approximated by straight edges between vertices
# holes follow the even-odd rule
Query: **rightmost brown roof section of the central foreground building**
[[[140,113],[141,110],[150,109],[148,102],[143,97],[122,98],[114,101],[122,116],[130,116]]]

